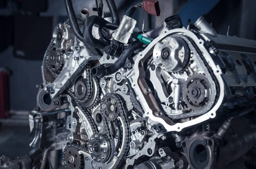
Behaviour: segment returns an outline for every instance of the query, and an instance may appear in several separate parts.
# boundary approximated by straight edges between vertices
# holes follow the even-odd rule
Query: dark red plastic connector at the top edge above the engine
[[[160,6],[158,0],[143,0],[143,9],[151,15],[160,16]]]

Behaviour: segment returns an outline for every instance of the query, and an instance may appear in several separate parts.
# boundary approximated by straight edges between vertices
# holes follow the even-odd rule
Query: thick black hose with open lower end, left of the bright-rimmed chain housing
[[[125,65],[126,59],[131,57],[135,50],[142,47],[143,47],[143,43],[139,41],[131,42],[131,44],[125,48],[125,50],[122,52],[120,57],[116,60],[116,62],[114,62],[112,65],[108,67],[103,67],[103,66],[94,67],[92,68],[92,74],[94,76],[103,77],[103,76],[107,76],[115,73],[117,70],[119,70]]]

